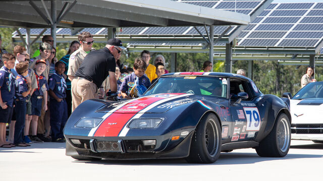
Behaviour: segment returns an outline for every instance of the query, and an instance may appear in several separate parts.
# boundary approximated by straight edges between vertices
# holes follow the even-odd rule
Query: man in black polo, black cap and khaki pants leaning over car
[[[125,49],[121,40],[113,38],[104,48],[86,55],[72,81],[72,111],[84,101],[97,98],[97,89],[108,75],[111,92],[117,92],[116,60]]]

